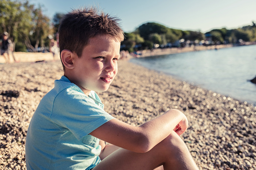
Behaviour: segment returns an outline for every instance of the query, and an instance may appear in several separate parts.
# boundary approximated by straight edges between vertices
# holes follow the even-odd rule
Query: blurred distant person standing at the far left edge
[[[12,41],[8,39],[9,38],[9,34],[7,32],[4,32],[2,35],[2,39],[0,40],[0,44],[1,44],[1,56],[3,56],[6,60],[6,63],[11,63],[10,60],[10,54],[13,51],[13,44]],[[13,56],[14,61],[15,57]]]

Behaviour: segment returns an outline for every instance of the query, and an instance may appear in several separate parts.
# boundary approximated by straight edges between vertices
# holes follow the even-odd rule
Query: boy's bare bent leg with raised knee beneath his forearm
[[[174,131],[146,153],[135,153],[123,148],[103,159],[98,169],[198,169],[186,144]]]

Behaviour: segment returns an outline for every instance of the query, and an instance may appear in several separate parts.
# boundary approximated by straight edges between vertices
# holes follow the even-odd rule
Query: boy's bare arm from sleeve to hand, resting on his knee
[[[147,152],[166,138],[172,130],[181,135],[187,127],[186,116],[179,110],[172,109],[139,127],[112,119],[90,134],[134,152]]]

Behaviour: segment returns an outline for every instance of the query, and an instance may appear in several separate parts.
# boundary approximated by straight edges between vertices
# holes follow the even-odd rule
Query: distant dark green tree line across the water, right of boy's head
[[[136,50],[152,49],[159,47],[183,47],[190,45],[219,45],[237,44],[241,42],[256,41],[256,25],[244,26],[238,29],[214,29],[207,33],[200,31],[183,31],[167,28],[157,23],[145,23],[132,33],[125,33],[126,39],[121,48],[130,52]],[[205,43],[208,40],[210,43]],[[207,42],[208,42],[207,41]],[[157,46],[158,47],[158,46]]]

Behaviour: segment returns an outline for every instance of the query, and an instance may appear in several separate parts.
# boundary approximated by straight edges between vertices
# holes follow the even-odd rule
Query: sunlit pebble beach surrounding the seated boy
[[[60,60],[0,65],[0,169],[26,169],[29,122],[42,97],[60,79]],[[105,110],[138,126],[168,109],[185,113],[181,135],[200,169],[256,169],[256,106],[205,90],[129,61],[98,93]]]

